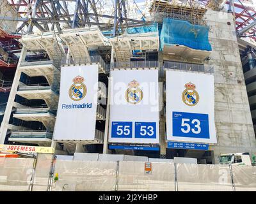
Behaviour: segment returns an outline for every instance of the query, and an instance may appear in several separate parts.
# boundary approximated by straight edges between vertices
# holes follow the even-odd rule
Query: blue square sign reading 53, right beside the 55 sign
[[[135,138],[156,138],[156,122],[135,122]]]

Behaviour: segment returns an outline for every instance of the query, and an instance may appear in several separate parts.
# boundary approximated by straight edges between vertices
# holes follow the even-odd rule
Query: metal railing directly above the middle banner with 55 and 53
[[[115,68],[159,68],[159,61],[129,61],[111,63],[111,69]]]

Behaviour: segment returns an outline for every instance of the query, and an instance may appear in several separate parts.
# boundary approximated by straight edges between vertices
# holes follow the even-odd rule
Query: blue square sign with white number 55
[[[132,138],[132,122],[112,122],[112,138]]]

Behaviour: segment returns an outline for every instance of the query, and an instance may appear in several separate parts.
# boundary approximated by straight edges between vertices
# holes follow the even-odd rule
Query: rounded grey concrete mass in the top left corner
[[[0,1],[0,16],[2,17],[18,17],[17,12],[13,9],[10,4],[8,4],[7,0]],[[0,27],[7,31],[8,33],[15,32],[16,27],[18,25],[17,21],[10,21],[10,20],[1,20]]]

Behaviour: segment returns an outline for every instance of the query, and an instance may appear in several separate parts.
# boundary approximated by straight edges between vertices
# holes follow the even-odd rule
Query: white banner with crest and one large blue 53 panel
[[[167,140],[217,143],[214,77],[166,70]]]

